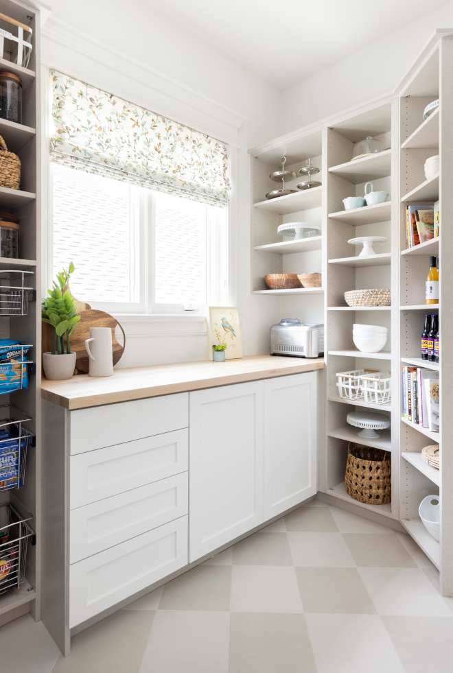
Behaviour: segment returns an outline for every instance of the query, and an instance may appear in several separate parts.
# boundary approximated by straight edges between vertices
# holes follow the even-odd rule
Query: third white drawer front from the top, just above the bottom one
[[[69,563],[186,515],[187,475],[183,472],[71,510]]]

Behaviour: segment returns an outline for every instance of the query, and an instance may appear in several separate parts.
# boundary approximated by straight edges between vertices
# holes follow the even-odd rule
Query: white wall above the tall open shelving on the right
[[[453,1],[290,86],[283,91],[283,132],[391,93],[433,32],[450,27]]]

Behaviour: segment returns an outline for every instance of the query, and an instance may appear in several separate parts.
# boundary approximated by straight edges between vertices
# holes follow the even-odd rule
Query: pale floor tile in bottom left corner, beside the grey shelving
[[[0,671],[50,673],[60,650],[43,622],[23,615],[0,627]]]

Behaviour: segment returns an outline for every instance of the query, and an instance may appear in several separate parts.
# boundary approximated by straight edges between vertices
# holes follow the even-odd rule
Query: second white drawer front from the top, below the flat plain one
[[[176,430],[70,456],[69,508],[186,472],[187,435]]]

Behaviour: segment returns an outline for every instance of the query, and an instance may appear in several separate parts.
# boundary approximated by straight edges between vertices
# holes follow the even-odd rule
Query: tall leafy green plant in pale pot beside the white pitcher
[[[74,373],[76,353],[71,351],[69,336],[80,320],[75,306],[75,299],[69,292],[69,276],[73,273],[71,262],[69,269],[56,274],[54,287],[47,290],[48,297],[43,299],[41,309],[43,322],[54,328],[51,353],[43,353],[45,377],[51,381],[70,379]],[[66,345],[65,345],[66,334]]]

